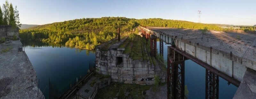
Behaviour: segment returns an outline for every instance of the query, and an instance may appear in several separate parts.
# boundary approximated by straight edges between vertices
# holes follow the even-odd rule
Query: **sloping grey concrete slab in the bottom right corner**
[[[238,87],[233,99],[255,99],[256,98],[256,71],[247,68],[244,78]]]

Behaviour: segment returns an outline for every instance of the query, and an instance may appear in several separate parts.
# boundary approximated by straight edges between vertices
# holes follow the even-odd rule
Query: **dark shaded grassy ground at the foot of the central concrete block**
[[[98,91],[96,99],[143,99],[145,92],[153,85],[111,83]]]

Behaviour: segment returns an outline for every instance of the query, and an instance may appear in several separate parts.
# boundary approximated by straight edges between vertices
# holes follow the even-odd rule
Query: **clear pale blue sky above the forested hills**
[[[1,6],[5,0],[0,0]],[[163,18],[201,23],[256,25],[256,0],[9,0],[22,24],[76,18]]]

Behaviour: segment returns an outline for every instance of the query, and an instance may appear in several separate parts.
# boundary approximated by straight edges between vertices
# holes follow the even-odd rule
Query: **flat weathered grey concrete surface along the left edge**
[[[20,41],[6,41],[0,44],[0,51],[8,48],[8,52],[0,53],[0,98],[3,99],[35,99],[37,97],[36,72],[22,51]],[[44,98],[44,96],[42,96]]]

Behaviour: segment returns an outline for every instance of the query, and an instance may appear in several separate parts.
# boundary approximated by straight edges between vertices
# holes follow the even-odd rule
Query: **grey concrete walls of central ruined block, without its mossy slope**
[[[166,74],[162,72],[158,64],[154,66],[147,60],[133,60],[129,57],[129,53],[123,53],[125,48],[119,48],[119,46],[125,40],[110,41],[96,48],[96,71],[110,75],[113,82],[151,85],[154,84],[156,74],[159,75],[161,82],[165,82]],[[106,45],[110,46],[104,48],[103,46]]]

